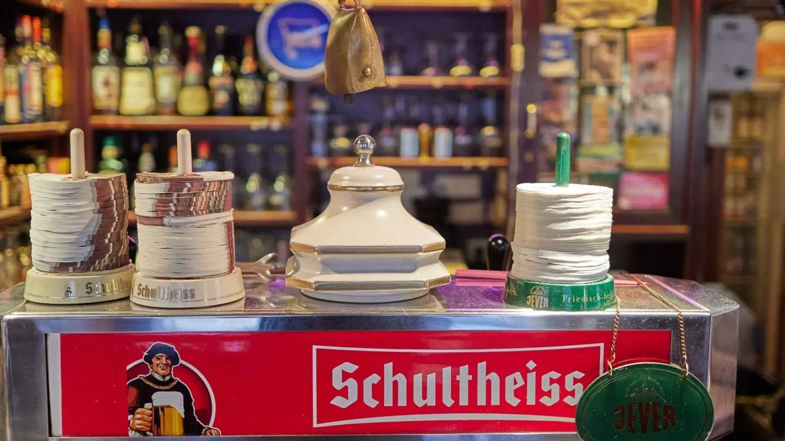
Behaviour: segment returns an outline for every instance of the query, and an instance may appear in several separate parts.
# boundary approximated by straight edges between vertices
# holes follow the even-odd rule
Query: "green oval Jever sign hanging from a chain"
[[[663,363],[633,363],[597,378],[575,415],[583,441],[705,441],[713,424],[703,384]]]

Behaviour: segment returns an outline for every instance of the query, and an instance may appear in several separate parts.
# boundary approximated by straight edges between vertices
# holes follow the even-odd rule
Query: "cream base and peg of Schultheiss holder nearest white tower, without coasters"
[[[177,132],[177,175],[193,173],[191,133]],[[140,242],[140,246],[143,246]],[[158,279],[137,272],[133,275],[131,301],[152,308],[200,308],[227,304],[245,297],[239,267],[217,277],[203,279]]]

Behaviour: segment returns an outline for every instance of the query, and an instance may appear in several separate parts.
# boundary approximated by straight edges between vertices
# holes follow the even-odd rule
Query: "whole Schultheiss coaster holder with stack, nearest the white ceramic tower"
[[[136,304],[198,308],[245,297],[235,267],[234,174],[193,173],[191,164],[191,133],[181,129],[177,173],[137,173]]]

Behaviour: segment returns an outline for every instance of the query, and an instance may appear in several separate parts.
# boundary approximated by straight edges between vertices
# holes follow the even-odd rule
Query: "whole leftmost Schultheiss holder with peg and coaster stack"
[[[71,174],[31,173],[33,268],[24,298],[85,304],[128,297],[126,175],[85,172],[84,134],[71,130]]]

